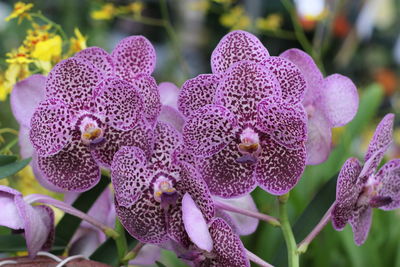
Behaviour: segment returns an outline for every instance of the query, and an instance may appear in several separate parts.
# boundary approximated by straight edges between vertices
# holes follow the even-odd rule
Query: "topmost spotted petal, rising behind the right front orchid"
[[[223,73],[241,60],[262,62],[268,57],[268,50],[257,37],[245,31],[233,31],[225,35],[214,49],[211,69],[215,74]]]

